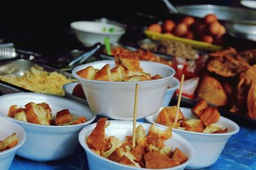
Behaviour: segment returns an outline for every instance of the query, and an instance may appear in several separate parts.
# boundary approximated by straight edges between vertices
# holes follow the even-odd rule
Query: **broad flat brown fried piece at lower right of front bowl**
[[[177,160],[170,159],[160,152],[148,152],[144,155],[146,168],[148,169],[163,169],[173,166],[178,166]]]

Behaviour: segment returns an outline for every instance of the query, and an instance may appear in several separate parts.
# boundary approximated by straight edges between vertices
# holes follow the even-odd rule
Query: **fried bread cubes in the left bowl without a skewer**
[[[56,113],[56,120],[53,120],[49,104],[36,104],[33,102],[26,104],[25,108],[19,108],[16,104],[10,106],[8,117],[39,125],[76,125],[87,121],[85,117],[72,118],[68,109],[58,111]]]

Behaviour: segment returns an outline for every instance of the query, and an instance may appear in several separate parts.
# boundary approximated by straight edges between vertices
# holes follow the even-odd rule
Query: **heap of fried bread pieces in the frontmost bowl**
[[[98,155],[132,167],[162,169],[175,167],[188,160],[179,148],[173,151],[164,145],[164,140],[172,138],[172,129],[161,130],[151,125],[146,135],[143,125],[136,128],[136,146],[132,148],[132,136],[121,141],[115,136],[106,136],[107,118],[100,118],[97,125],[86,138],[88,147]]]

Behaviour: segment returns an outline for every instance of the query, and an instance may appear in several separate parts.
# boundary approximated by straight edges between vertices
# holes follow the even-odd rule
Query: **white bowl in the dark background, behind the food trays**
[[[125,33],[122,27],[102,22],[77,21],[72,22],[70,26],[76,32],[77,39],[85,46],[92,46],[95,43],[104,44],[105,37],[109,37],[110,43],[116,43]],[[114,31],[109,32],[109,28],[113,28]]]

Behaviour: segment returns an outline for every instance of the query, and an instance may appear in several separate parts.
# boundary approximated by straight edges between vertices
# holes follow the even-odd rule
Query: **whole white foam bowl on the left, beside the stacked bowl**
[[[9,107],[13,104],[24,107],[29,102],[48,103],[53,117],[56,116],[56,112],[68,109],[73,116],[75,113],[76,117],[84,116],[88,121],[77,125],[50,126],[21,122],[7,116]],[[84,104],[47,94],[24,92],[6,94],[0,96],[0,103],[0,115],[17,122],[27,133],[26,143],[20,147],[17,155],[38,162],[62,159],[76,152],[77,146],[79,146],[77,141],[79,131],[91,124],[96,117],[90,108]]]

